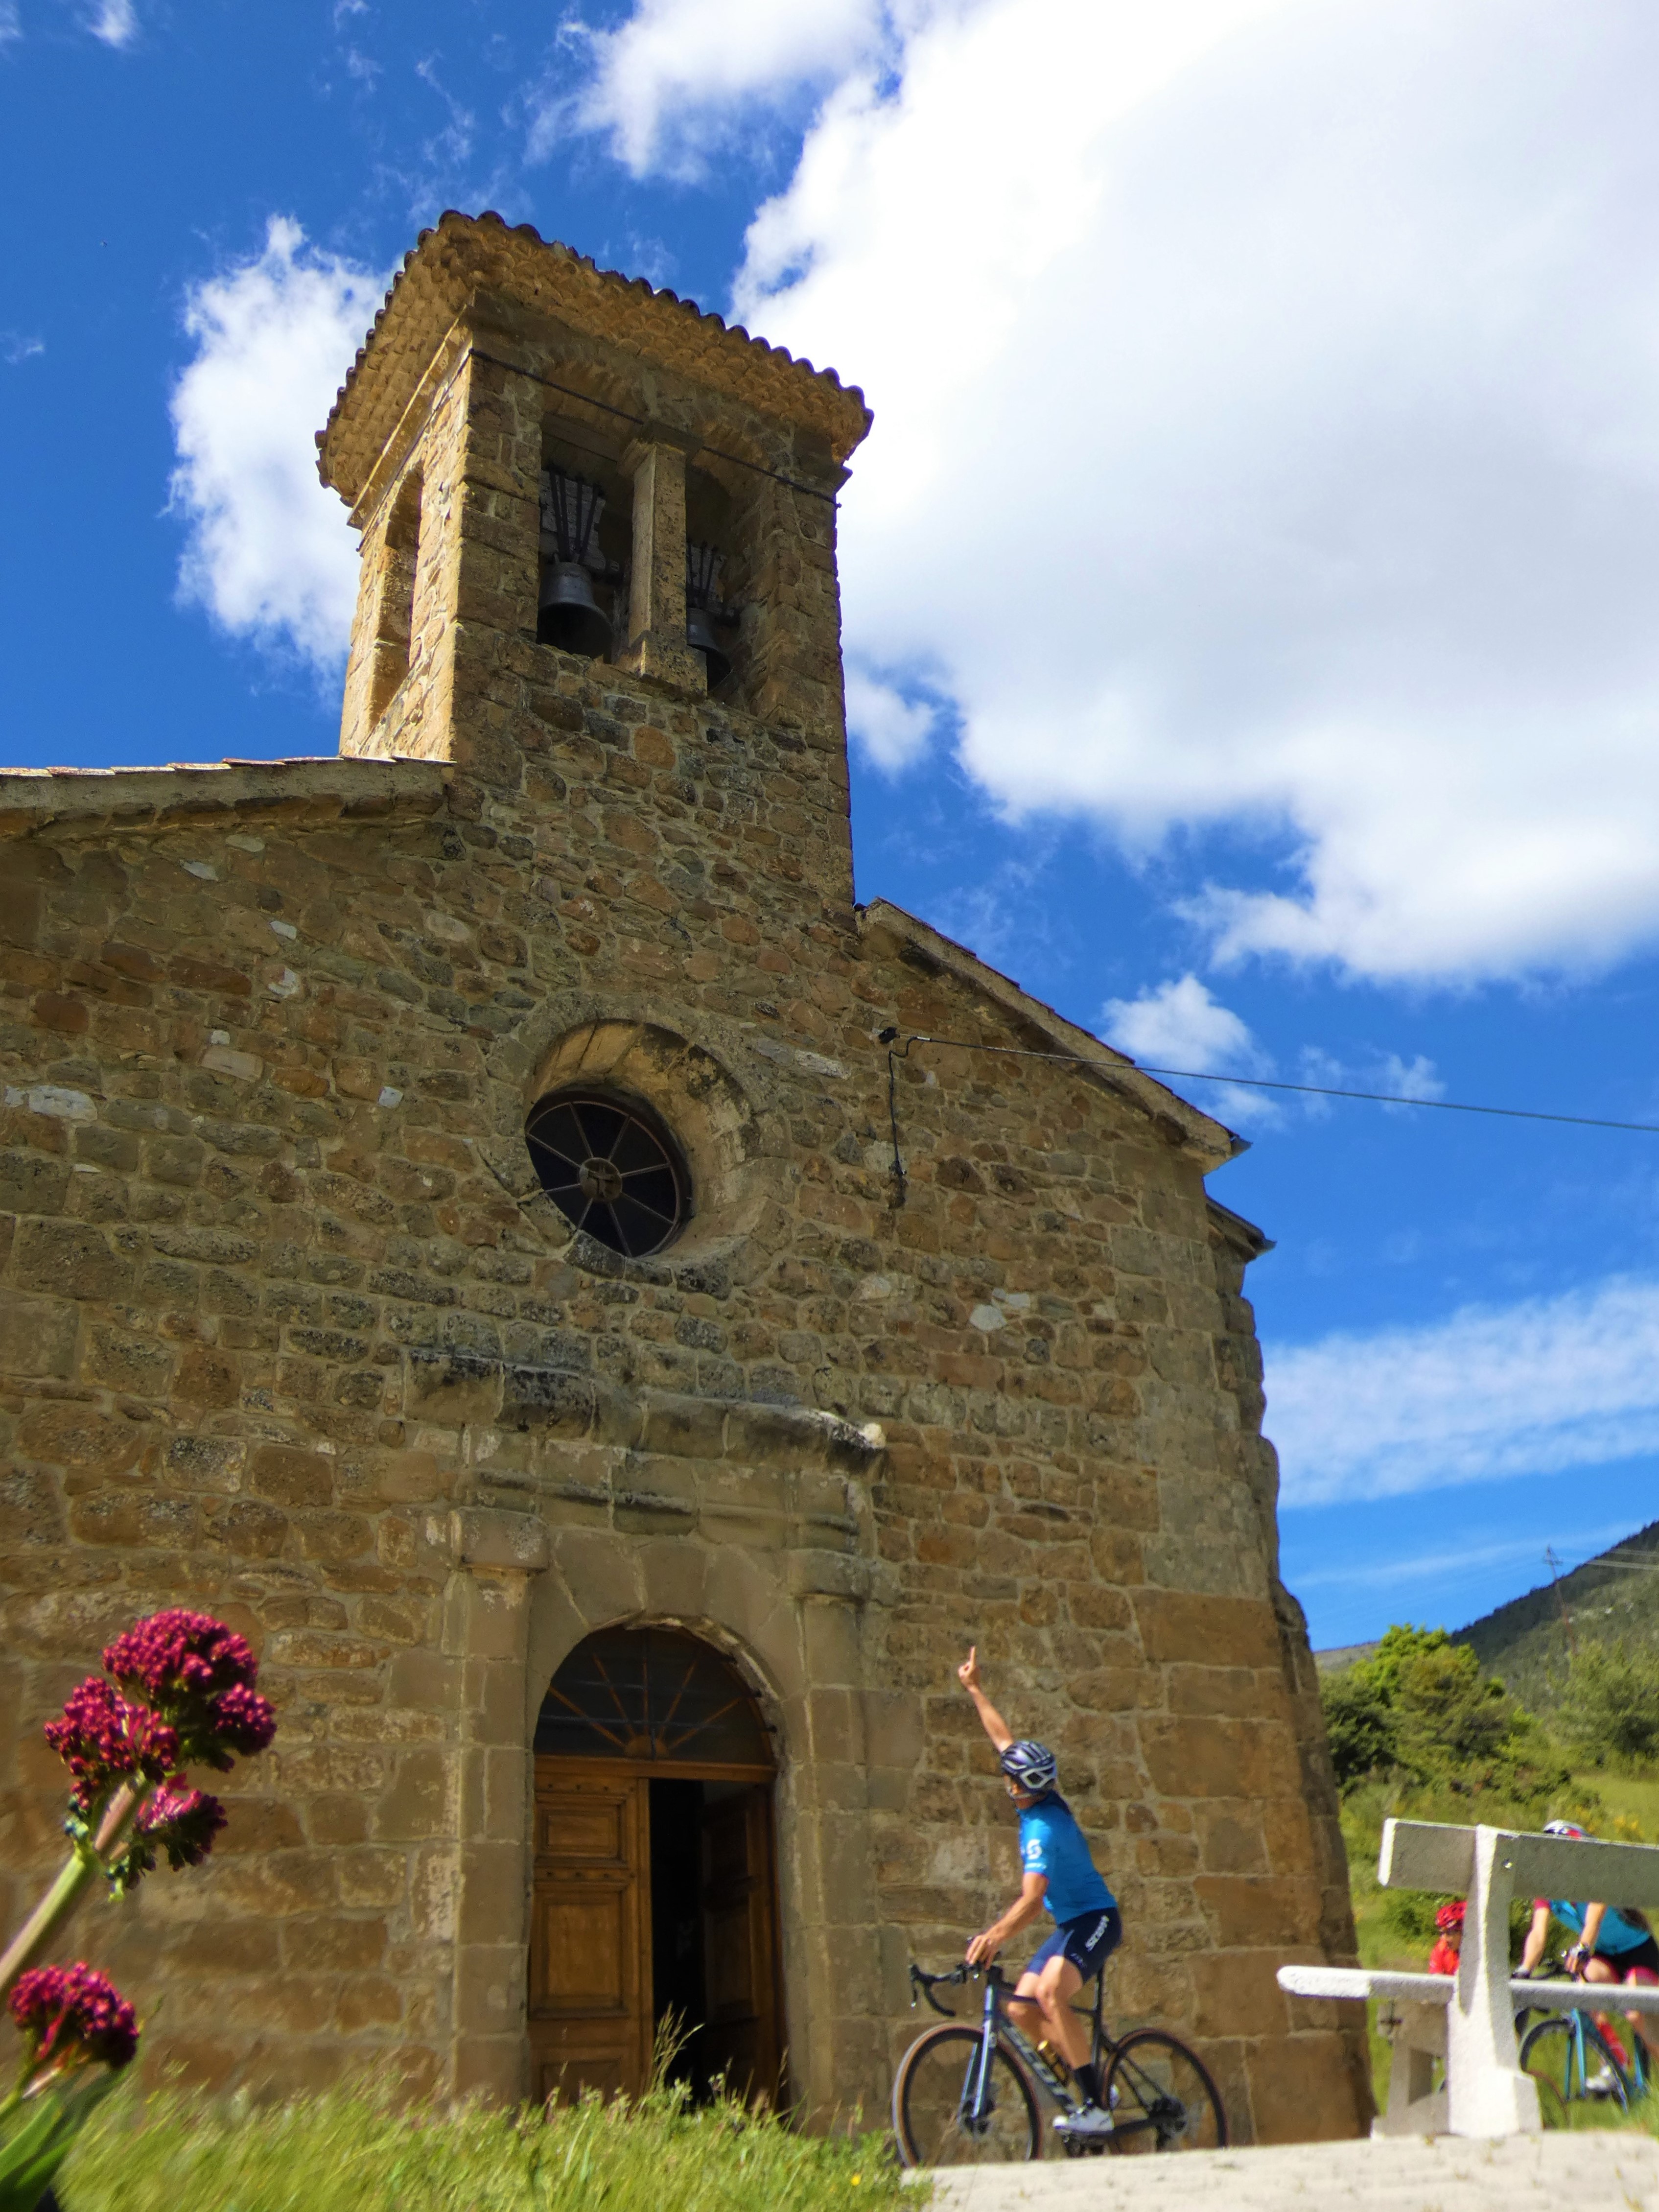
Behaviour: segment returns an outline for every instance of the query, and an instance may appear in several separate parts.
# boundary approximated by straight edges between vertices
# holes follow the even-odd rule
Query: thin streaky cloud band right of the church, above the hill
[[[1281,1504],[1394,1498],[1659,1451],[1659,1283],[1267,1347]]]

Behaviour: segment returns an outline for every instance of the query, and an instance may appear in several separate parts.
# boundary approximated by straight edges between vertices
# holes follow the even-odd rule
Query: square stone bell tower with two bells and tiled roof
[[[832,372],[445,215],[319,436],[363,562],[341,752],[502,799],[641,726],[692,779],[699,748],[765,754],[849,900],[836,491],[867,429]]]

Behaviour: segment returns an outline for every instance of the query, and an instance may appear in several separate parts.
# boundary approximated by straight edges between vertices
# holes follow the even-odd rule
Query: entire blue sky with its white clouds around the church
[[[863,383],[860,896],[1144,1060],[1659,1121],[1637,0],[0,0],[0,757],[332,752],[310,431],[498,208]],[[1659,1137],[1186,1086],[1285,1571],[1652,1520]]]

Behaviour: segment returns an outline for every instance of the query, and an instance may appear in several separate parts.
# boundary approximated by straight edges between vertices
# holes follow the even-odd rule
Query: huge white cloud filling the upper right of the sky
[[[734,301],[876,407],[849,646],[942,672],[1013,814],[1256,832],[1279,883],[1197,909],[1223,958],[1650,942],[1659,15],[984,0],[883,35],[646,0],[591,108],[672,161],[675,104],[708,131],[852,55]]]

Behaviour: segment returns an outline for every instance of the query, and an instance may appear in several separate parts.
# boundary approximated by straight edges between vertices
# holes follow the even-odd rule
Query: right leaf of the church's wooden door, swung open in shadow
[[[750,1785],[703,1807],[703,1978],[710,2075],[739,2097],[781,2095],[772,1790]]]

